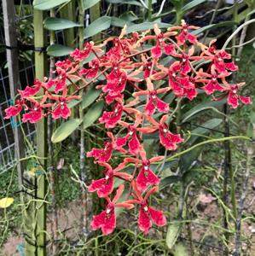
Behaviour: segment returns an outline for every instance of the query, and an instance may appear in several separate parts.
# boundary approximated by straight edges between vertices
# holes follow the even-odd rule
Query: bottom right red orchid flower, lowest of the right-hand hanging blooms
[[[148,197],[159,191],[158,187],[154,187],[142,197],[140,191],[136,187],[136,182],[132,182],[132,188],[135,192],[134,200],[128,200],[126,202],[140,205],[140,212],[138,218],[138,226],[144,234],[148,234],[148,231],[152,227],[153,223],[159,227],[165,226],[166,218],[162,211],[156,210],[154,207],[148,205]]]

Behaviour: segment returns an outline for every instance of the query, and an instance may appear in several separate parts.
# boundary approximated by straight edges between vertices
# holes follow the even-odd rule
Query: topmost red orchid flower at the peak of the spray
[[[188,26],[188,24],[185,22],[185,20],[182,20],[182,26],[172,26],[168,30],[182,30],[181,33],[176,37],[177,38],[177,44],[183,45],[186,44],[186,41],[188,41],[190,44],[196,44],[197,38],[195,35],[188,32],[189,29],[198,29],[199,26]]]

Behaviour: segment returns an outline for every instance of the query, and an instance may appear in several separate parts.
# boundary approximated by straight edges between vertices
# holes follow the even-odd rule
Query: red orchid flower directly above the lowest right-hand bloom
[[[164,159],[164,156],[155,156],[149,160],[146,158],[146,152],[144,148],[141,147],[139,154],[142,160],[138,160],[136,158],[125,158],[125,163],[136,163],[142,165],[140,167],[140,172],[136,177],[136,185],[137,188],[144,192],[148,189],[148,185],[158,185],[159,184],[159,177],[157,177],[154,172],[150,169],[150,164],[154,162],[158,162]]]

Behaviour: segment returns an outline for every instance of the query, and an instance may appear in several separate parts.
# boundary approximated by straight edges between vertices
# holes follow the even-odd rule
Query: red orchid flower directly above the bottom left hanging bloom
[[[113,192],[113,177],[119,177],[126,181],[130,181],[132,179],[132,175],[125,172],[119,172],[120,170],[125,168],[125,163],[119,164],[119,166],[116,167],[115,169],[113,169],[112,166],[110,166],[107,163],[100,162],[99,164],[107,168],[104,171],[105,177],[102,177],[101,179],[98,180],[92,180],[92,183],[88,188],[89,192],[96,191],[98,197],[107,197],[107,195],[110,195]]]

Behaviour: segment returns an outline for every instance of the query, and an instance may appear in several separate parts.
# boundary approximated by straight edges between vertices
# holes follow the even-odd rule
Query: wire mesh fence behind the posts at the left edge
[[[26,1],[26,4],[20,3],[15,6],[16,11],[16,24],[17,24],[17,34],[18,38],[24,38],[27,43],[32,40],[32,37],[29,36],[29,32],[26,33],[26,37],[21,35],[26,26],[30,23],[29,20],[32,20],[32,1]],[[0,7],[1,17],[3,17],[2,4]],[[30,23],[31,24],[31,23]],[[20,28],[22,29],[20,30]],[[24,42],[24,43],[26,43]],[[15,123],[14,119],[4,119],[4,109],[8,108],[13,104],[13,99],[10,97],[10,88],[9,88],[9,73],[8,68],[6,67],[6,46],[5,46],[5,37],[3,31],[3,19],[0,23],[0,174],[8,171],[16,163],[15,158],[15,148],[14,148],[14,129],[19,129],[20,124]],[[27,84],[32,84],[34,79],[34,64],[32,61],[32,52],[21,53],[19,55],[20,59],[20,84],[22,88]],[[34,145],[34,135],[35,127],[31,124],[23,124],[23,129],[26,135],[26,138]],[[30,154],[26,150],[26,154]]]

